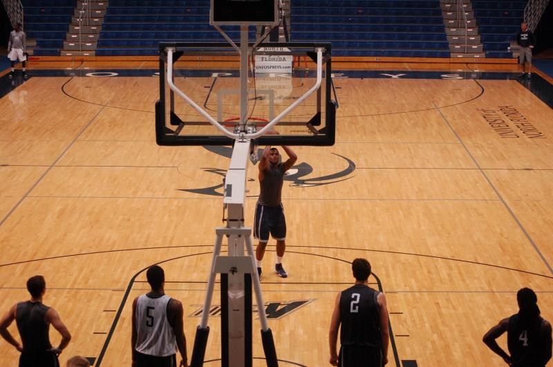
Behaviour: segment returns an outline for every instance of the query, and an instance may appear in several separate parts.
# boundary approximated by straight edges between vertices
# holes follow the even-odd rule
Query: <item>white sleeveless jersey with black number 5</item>
[[[167,319],[167,307],[171,298],[158,298],[146,294],[136,302],[136,345],[135,350],[144,355],[167,357],[177,352],[175,332]]]

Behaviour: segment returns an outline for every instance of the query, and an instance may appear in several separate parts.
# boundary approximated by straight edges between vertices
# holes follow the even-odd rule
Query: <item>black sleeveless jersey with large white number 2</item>
[[[354,285],[341,292],[340,343],[342,346],[380,348],[380,306],[378,291],[367,285]]]

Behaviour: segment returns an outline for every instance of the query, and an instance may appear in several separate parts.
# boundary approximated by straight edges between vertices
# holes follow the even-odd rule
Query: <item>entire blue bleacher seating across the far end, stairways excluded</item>
[[[76,2],[24,0],[35,55],[59,55]],[[486,57],[512,57],[525,0],[472,3]],[[439,0],[291,0],[290,9],[291,41],[331,41],[334,56],[450,57]],[[238,27],[224,29],[239,40]],[[209,0],[111,0],[96,55],[157,55],[160,41],[226,42],[209,25]]]

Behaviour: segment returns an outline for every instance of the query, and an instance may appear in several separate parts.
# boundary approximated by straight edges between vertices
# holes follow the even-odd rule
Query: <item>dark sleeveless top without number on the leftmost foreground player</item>
[[[24,353],[41,353],[52,348],[48,337],[50,323],[44,321],[49,309],[40,302],[17,303],[15,321],[23,341]]]

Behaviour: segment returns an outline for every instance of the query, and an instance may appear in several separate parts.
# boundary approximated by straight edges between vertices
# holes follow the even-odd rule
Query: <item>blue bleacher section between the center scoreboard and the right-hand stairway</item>
[[[292,41],[331,41],[335,56],[449,57],[440,2],[292,0]]]

